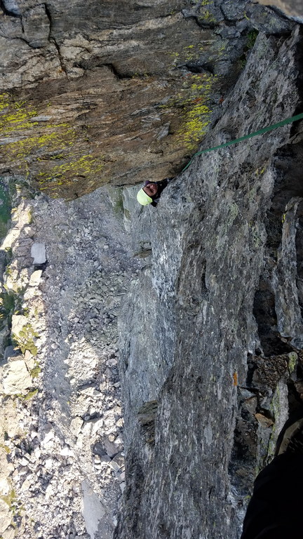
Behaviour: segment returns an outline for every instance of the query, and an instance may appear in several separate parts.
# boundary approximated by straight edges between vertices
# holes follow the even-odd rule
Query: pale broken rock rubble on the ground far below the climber
[[[2,248],[1,537],[110,539],[125,488],[116,320],[139,269],[123,214],[106,189],[20,201]]]

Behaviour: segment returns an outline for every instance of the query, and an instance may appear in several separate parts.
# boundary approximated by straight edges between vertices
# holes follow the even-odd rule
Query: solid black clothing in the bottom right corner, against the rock
[[[255,479],[241,539],[303,538],[303,455],[275,457]]]

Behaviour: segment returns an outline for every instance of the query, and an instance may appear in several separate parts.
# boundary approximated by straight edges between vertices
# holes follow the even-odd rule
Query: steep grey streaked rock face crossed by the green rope
[[[259,35],[212,147],[299,111],[302,31]],[[302,122],[196,157],[133,218],[116,539],[237,538],[302,396]]]

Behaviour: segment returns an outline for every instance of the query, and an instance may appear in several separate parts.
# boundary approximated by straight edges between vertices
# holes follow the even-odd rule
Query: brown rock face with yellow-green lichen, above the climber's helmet
[[[240,0],[4,0],[0,172],[71,199],[178,173],[257,31],[292,22]]]

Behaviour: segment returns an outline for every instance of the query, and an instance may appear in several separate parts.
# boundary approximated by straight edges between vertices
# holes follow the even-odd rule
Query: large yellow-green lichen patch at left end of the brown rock
[[[62,196],[62,187],[74,187],[74,182],[89,184],[97,179],[100,185],[104,157],[89,151],[85,130],[69,122],[34,121],[40,112],[8,93],[0,96],[2,159],[53,197]]]

